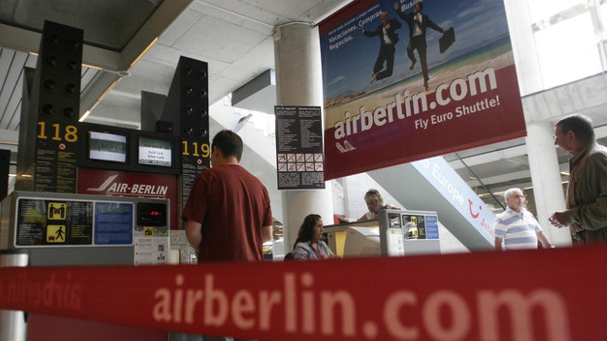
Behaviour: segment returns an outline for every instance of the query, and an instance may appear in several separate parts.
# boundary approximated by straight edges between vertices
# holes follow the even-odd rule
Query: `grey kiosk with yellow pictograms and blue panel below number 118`
[[[0,203],[0,256],[25,257],[7,266],[168,263],[168,207],[166,199],[15,191]],[[26,319],[0,310],[0,341],[24,341]]]

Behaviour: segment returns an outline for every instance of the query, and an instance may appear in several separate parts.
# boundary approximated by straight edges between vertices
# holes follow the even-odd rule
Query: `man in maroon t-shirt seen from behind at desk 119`
[[[268,190],[239,165],[243,144],[230,130],[211,143],[211,168],[194,181],[181,218],[198,251],[198,263],[261,262],[263,242],[272,238]]]

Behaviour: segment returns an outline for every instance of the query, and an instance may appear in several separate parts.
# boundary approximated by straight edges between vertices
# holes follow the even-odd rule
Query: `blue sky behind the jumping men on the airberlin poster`
[[[396,0],[399,1],[399,0]],[[395,0],[381,0],[371,4],[368,8],[379,4],[370,13],[358,18],[362,12],[355,13],[350,19],[353,21],[344,25],[341,30],[331,28],[327,33],[320,36],[320,50],[322,55],[323,88],[325,100],[331,97],[341,97],[361,90],[377,89],[387,86],[401,79],[419,73],[421,78],[421,69],[419,62],[413,71],[409,70],[410,61],[407,57],[407,44],[409,44],[409,27],[402,20],[394,8]],[[410,6],[405,9],[405,13],[413,10],[413,4],[418,0],[399,1],[402,6]],[[456,42],[441,54],[438,50],[438,39],[441,33],[432,29],[427,29],[427,62],[429,69],[433,66],[444,64],[472,52],[481,49],[487,44],[506,38],[509,34],[506,13],[504,11],[503,0],[424,0],[423,13],[428,15],[430,20],[438,24],[443,29],[455,28]],[[367,37],[362,35],[359,27],[359,21],[368,18],[372,13],[379,10],[388,12],[388,18],[398,19],[402,27],[396,32],[399,35],[399,42],[396,44],[396,54],[394,62],[394,71],[392,76],[377,81],[371,86],[371,73],[373,65],[379,53],[380,39],[378,36]],[[365,24],[365,30],[375,30],[381,24],[381,18],[377,17]],[[356,30],[342,36],[340,39],[329,42],[331,37],[338,35],[348,27],[356,26]],[[339,27],[337,25],[334,28]],[[330,34],[332,33],[332,34]],[[335,44],[346,37],[344,44],[337,49],[329,49],[331,44]],[[416,58],[418,53],[415,52]],[[419,58],[418,58],[419,59]]]

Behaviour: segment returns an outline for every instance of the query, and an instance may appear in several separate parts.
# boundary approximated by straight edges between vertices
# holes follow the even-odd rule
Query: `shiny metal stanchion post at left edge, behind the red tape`
[[[27,266],[29,253],[21,250],[0,250],[0,266]],[[8,294],[8,288],[4,289]],[[0,341],[25,341],[27,312],[0,310]]]

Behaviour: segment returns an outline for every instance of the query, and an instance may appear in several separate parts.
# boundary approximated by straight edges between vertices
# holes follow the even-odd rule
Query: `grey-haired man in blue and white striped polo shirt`
[[[510,188],[504,193],[508,207],[495,220],[495,250],[537,249],[537,240],[544,248],[554,245],[544,235],[540,224],[531,212],[524,208],[525,197],[518,188]],[[502,241],[504,248],[502,248]]]

